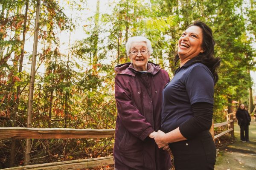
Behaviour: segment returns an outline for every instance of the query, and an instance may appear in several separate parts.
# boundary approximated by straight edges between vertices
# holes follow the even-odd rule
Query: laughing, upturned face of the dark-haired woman
[[[198,26],[191,26],[183,32],[179,39],[178,54],[180,61],[192,59],[204,52],[202,49],[203,33]]]

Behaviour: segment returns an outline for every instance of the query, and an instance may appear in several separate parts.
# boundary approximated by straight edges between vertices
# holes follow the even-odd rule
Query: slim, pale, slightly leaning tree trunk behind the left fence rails
[[[39,19],[40,19],[40,10],[41,10],[40,7],[41,7],[41,0],[37,0],[34,45],[33,45],[32,65],[31,65],[30,83],[29,83],[27,127],[31,127],[31,118],[32,118],[33,94],[34,94],[34,83],[35,83],[35,63],[36,63],[36,55],[37,55],[38,30],[39,30]],[[30,149],[31,149],[31,140],[26,139],[26,148],[25,148],[26,151],[25,151],[25,157],[24,157],[24,165],[29,165]]]

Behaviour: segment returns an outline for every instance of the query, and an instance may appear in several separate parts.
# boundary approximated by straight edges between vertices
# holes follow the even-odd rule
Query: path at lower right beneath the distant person
[[[235,123],[236,142],[219,150],[215,170],[256,170],[256,122],[249,126],[250,143],[240,141],[240,128]]]

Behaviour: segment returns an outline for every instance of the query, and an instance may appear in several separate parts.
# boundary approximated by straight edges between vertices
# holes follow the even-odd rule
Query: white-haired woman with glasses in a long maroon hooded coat
[[[168,152],[158,149],[151,139],[161,126],[162,90],[169,75],[159,65],[148,62],[153,50],[147,38],[129,38],[126,51],[131,63],[115,68],[115,168],[169,170]]]

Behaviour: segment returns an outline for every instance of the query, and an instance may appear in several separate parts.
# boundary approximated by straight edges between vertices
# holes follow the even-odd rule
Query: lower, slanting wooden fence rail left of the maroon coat
[[[2,170],[77,170],[113,164],[113,156],[11,167]]]

